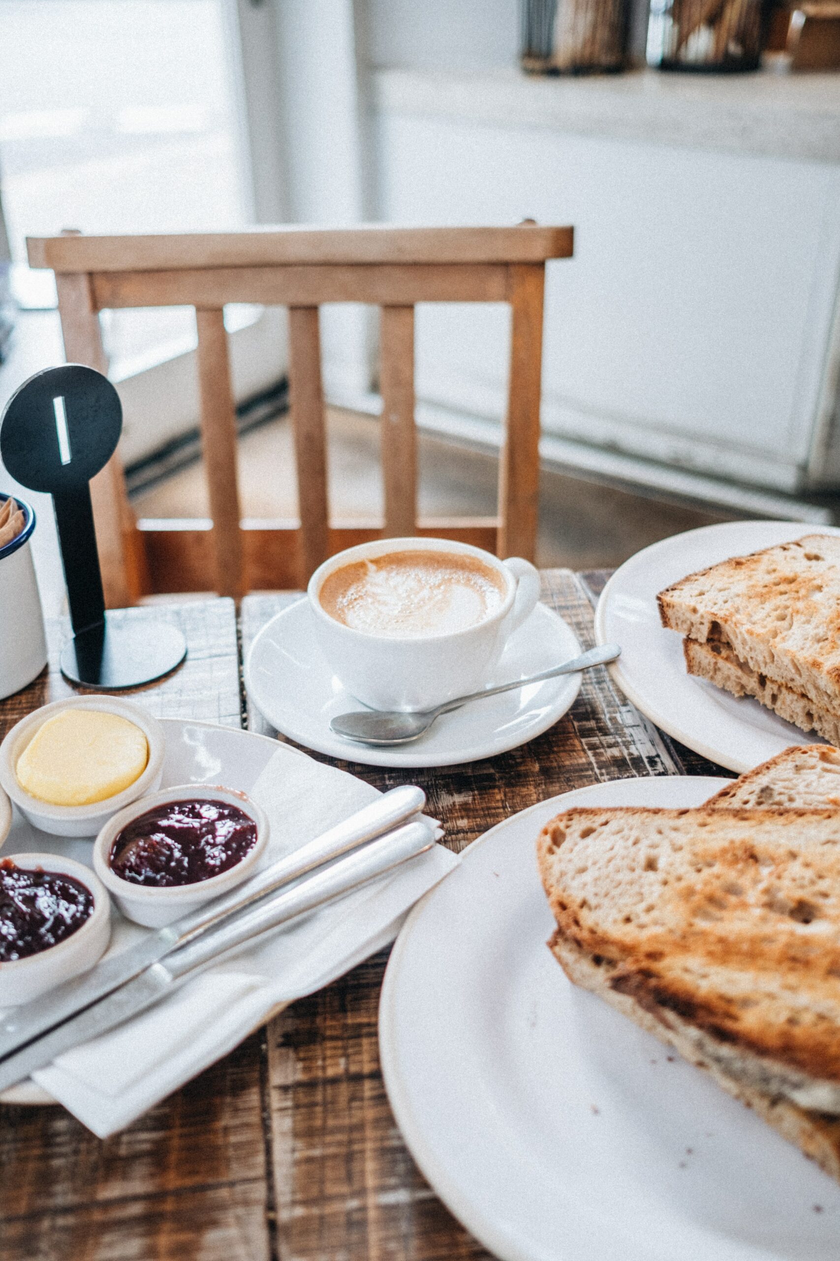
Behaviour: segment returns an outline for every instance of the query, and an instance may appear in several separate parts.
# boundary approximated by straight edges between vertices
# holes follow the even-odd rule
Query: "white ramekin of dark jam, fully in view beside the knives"
[[[209,880],[196,880],[195,884],[173,884],[159,889],[123,880],[108,861],[117,832],[146,811],[155,810],[156,806],[167,806],[173,801],[223,801],[229,806],[238,806],[257,825],[253,849],[248,850],[236,866],[210,876]],[[205,902],[218,898],[220,893],[228,893],[253,875],[268,844],[268,832],[264,812],[247,793],[213,784],[180,784],[178,788],[165,788],[162,792],[152,793],[151,797],[144,797],[142,801],[126,806],[110,818],[93,844],[93,870],[113,894],[123,915],[146,928],[162,928],[164,924],[171,924],[174,919],[180,919]]]

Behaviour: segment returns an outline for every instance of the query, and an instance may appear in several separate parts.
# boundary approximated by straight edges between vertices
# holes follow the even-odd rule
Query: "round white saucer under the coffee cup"
[[[369,748],[330,730],[330,719],[336,714],[364,706],[330,670],[315,642],[311,617],[304,598],[262,628],[248,653],[246,686],[272,726],[331,758],[369,767],[451,767],[492,758],[547,731],[574,702],[581,687],[579,675],[531,683],[446,714],[408,747]],[[536,675],[579,652],[581,646],[563,618],[538,604],[505,644],[487,687]]]

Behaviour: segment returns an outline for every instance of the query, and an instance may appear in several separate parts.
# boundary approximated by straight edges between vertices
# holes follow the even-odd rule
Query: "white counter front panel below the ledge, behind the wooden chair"
[[[545,429],[795,489],[837,267],[836,168],[387,115],[378,169],[388,221],[576,226],[574,259],[549,264]],[[500,415],[505,330],[501,311],[427,308],[419,395]]]

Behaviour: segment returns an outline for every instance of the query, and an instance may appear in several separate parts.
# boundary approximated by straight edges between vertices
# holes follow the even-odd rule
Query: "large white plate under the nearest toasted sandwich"
[[[558,810],[695,806],[728,782],[623,779],[533,806],[399,934],[379,1008],[388,1097],[441,1199],[505,1261],[840,1256],[840,1187],[545,947],[535,841]]]

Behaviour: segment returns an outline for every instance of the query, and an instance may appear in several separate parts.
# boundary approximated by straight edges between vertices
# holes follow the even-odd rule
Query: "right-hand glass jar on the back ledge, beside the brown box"
[[[758,69],[763,0],[651,0],[647,64],[662,71]]]

